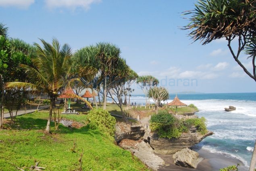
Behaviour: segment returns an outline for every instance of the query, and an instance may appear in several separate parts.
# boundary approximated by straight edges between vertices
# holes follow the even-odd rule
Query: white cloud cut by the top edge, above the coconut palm
[[[77,7],[88,10],[93,3],[99,3],[101,0],[46,0],[48,8],[71,8],[75,10]]]

